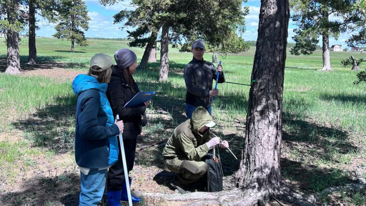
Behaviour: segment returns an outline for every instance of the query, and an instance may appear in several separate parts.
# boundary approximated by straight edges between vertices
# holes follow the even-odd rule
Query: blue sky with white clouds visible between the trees
[[[120,27],[123,25],[113,24],[113,15],[117,14],[120,10],[124,8],[133,9],[130,6],[130,1],[124,1],[116,3],[112,6],[103,6],[98,0],[85,0],[87,8],[89,10],[89,16],[91,18],[89,22],[89,30],[85,32],[86,37],[104,37],[104,38],[123,38],[127,37],[126,29],[121,30]],[[246,41],[257,40],[257,30],[259,21],[259,8],[261,5],[260,0],[248,0],[247,3],[243,3],[243,6],[248,6],[250,14],[246,16],[246,32],[243,34],[243,38]],[[37,30],[37,36],[52,37],[55,33],[55,29],[52,23],[38,17],[37,25],[40,27]],[[292,36],[294,36],[293,30],[296,28],[294,22],[290,20],[290,25],[288,28],[288,42],[294,42]],[[342,34],[338,40],[330,38],[330,45],[342,44],[343,47],[346,46],[347,34]],[[320,43],[321,44],[321,41]]]

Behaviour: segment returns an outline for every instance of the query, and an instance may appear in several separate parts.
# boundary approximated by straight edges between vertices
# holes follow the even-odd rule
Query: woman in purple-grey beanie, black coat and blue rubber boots
[[[134,166],[137,136],[141,133],[142,125],[146,124],[144,113],[149,102],[133,108],[124,107],[139,92],[139,88],[132,77],[138,66],[137,56],[130,49],[120,49],[115,53],[115,60],[117,66],[112,68],[107,98],[111,104],[114,117],[118,114],[124,123],[122,138],[127,171],[130,172]],[[118,161],[108,171],[108,202],[110,206],[120,206],[120,201],[128,202],[127,188],[124,181],[123,163],[121,154],[119,154]],[[139,203],[141,199],[132,195],[132,202]]]

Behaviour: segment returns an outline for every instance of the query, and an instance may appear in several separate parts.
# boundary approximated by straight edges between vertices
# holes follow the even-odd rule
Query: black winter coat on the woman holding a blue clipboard
[[[118,114],[119,118],[123,120],[123,139],[133,139],[141,133],[142,117],[146,110],[145,104],[143,103],[138,107],[124,107],[135,96],[132,93],[131,87],[134,88],[135,94],[139,92],[136,82],[133,81],[133,85],[128,84],[124,79],[123,69],[113,66],[112,77],[108,84],[106,95],[111,104],[113,116],[116,117]]]

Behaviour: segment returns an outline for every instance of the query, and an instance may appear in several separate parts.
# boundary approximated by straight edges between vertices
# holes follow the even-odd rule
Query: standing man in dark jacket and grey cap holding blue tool
[[[186,114],[190,119],[193,111],[202,106],[212,114],[212,98],[219,95],[219,90],[212,89],[213,80],[216,80],[217,72],[219,74],[218,83],[225,82],[223,67],[217,68],[208,61],[203,60],[205,53],[205,43],[202,40],[195,40],[192,44],[193,59],[184,68],[184,81],[186,82]]]

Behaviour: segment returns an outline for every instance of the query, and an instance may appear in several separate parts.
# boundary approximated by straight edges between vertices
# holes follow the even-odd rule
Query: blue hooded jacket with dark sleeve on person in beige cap
[[[105,92],[107,84],[79,74],[72,82],[76,104],[75,160],[83,168],[105,168],[118,159],[118,126]]]

